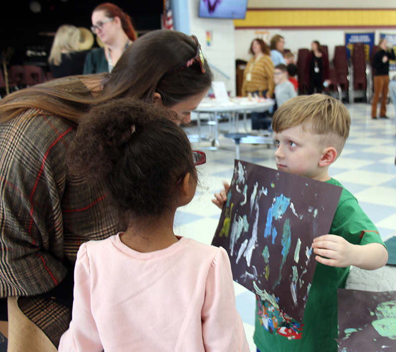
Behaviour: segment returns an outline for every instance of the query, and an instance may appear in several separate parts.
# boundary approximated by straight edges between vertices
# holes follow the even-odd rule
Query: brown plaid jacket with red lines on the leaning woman
[[[101,185],[67,174],[65,153],[77,126],[33,113],[0,123],[0,295],[18,296],[57,346],[70,307],[33,296],[53,290],[68,271],[72,277],[79,246],[114,235],[117,218]]]

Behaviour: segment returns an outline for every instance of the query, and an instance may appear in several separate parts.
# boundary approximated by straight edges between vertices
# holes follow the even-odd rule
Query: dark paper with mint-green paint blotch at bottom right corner
[[[338,290],[339,352],[396,351],[396,292]]]

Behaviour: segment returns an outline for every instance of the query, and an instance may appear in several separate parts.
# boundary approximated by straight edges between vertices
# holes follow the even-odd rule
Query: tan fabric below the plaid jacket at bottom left
[[[49,338],[19,309],[15,297],[8,302],[7,352],[56,352]]]

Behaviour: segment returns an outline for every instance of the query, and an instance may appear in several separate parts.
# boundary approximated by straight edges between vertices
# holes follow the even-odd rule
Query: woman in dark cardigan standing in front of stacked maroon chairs
[[[323,52],[318,41],[311,43],[311,51],[307,55],[305,63],[305,82],[307,83],[307,94],[322,93],[323,87],[330,84],[329,58]]]

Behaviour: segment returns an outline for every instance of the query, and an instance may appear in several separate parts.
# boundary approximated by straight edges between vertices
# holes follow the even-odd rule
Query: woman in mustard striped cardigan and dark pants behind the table
[[[272,98],[274,93],[274,65],[270,50],[262,39],[254,39],[250,44],[249,53],[253,55],[247,62],[242,83],[242,96]],[[267,129],[268,123],[264,113],[251,113],[253,130]]]

